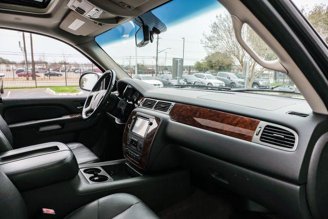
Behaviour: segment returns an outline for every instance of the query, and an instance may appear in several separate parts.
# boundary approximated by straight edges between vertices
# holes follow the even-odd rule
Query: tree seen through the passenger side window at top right
[[[303,7],[301,11],[323,40],[328,43],[328,6],[315,5],[311,10]]]

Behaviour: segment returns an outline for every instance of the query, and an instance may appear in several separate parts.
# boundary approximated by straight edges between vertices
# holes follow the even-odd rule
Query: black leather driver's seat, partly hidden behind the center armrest
[[[12,150],[13,137],[8,124],[0,115],[0,152]],[[91,164],[99,161],[99,158],[86,146],[80,143],[66,144],[74,153],[78,164]]]

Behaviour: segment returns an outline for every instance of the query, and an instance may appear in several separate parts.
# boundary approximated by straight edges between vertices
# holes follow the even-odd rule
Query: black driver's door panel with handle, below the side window
[[[4,98],[0,112],[12,131],[13,147],[45,142],[84,144],[80,136],[104,127],[103,123],[98,123],[99,117],[83,121],[79,116],[79,107],[83,106],[85,99],[86,96]],[[93,133],[94,141],[89,140],[86,146],[96,145],[100,136]]]

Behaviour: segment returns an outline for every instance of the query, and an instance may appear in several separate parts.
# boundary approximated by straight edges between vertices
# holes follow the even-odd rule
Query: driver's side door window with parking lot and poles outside
[[[101,72],[73,47],[47,36],[0,29],[0,41],[2,97],[87,95],[79,88],[80,75]]]

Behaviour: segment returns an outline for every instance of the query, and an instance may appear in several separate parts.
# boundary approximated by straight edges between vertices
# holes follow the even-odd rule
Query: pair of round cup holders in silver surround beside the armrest
[[[113,178],[101,167],[80,169],[90,184],[113,181]]]

